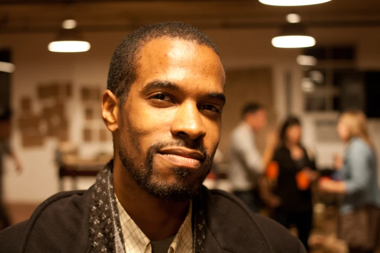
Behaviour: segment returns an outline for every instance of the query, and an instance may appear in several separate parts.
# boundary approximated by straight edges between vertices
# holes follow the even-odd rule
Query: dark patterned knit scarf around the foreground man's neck
[[[90,244],[91,253],[125,253],[119,213],[113,185],[113,163],[109,161],[91,188]],[[193,199],[192,227],[193,252],[203,252],[206,231],[205,209],[202,194]]]

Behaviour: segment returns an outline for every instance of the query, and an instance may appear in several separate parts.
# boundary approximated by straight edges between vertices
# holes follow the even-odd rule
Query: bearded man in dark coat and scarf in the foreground
[[[116,47],[102,95],[114,158],[86,191],[61,192],[0,232],[0,252],[304,253],[280,224],[208,190],[225,104],[215,44],[182,22]]]

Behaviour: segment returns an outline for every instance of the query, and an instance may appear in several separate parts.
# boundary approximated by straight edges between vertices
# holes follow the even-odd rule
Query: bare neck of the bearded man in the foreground
[[[189,201],[157,199],[132,178],[120,159],[114,159],[115,194],[128,215],[149,240],[163,240],[177,234],[186,218]]]

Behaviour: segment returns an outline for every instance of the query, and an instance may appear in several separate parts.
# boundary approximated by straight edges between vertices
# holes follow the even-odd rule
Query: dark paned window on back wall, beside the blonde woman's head
[[[347,106],[344,90],[348,86],[350,91],[355,90],[352,88],[355,85],[355,94],[361,97],[356,105],[362,109],[364,91],[358,88],[363,86],[361,79],[356,78],[357,83],[352,84],[352,77],[361,75],[355,67],[355,47],[311,47],[305,49],[304,54],[318,61],[317,65],[304,69],[301,80],[305,111],[341,111]]]

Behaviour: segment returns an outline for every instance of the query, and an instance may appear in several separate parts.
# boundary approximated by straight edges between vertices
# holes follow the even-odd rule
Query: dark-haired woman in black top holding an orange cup
[[[287,228],[294,223],[299,239],[308,250],[313,219],[310,183],[317,179],[318,173],[314,159],[308,156],[300,143],[301,125],[296,117],[289,117],[285,121],[281,127],[280,138],[281,145],[273,157],[279,168],[274,194],[280,199],[279,206],[274,209],[274,219]],[[300,181],[297,184],[299,172],[304,177],[303,186]]]

